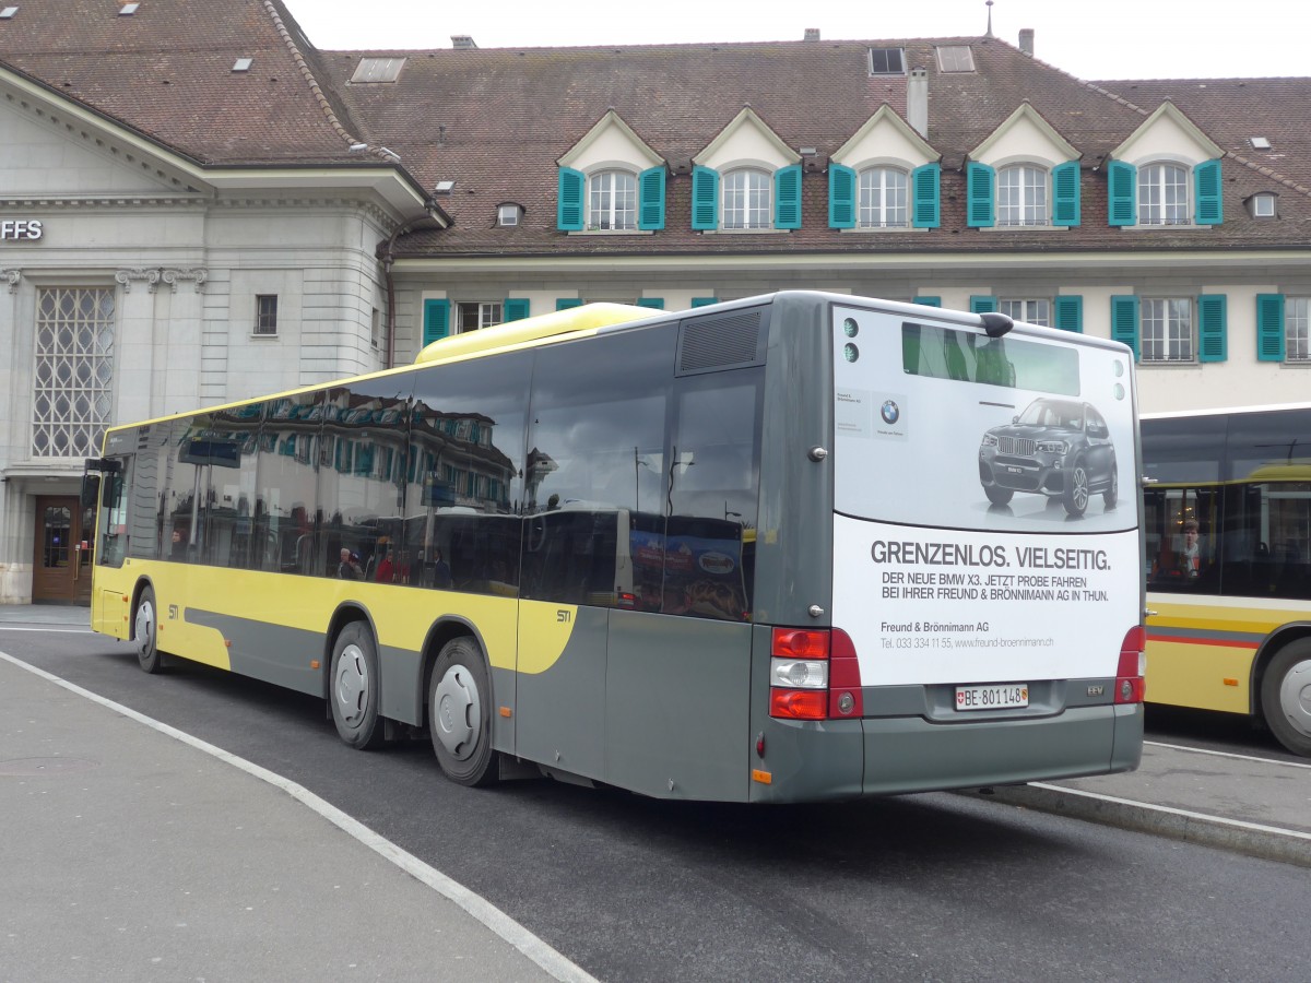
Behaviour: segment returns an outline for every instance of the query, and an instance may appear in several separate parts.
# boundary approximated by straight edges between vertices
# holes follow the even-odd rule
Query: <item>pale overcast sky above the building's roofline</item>
[[[985,0],[873,4],[806,0],[750,7],[615,4],[614,0],[286,0],[320,48],[444,48],[452,34],[479,47],[876,39],[978,35]],[[562,13],[564,12],[564,13]],[[992,33],[1036,31],[1036,55],[1079,79],[1197,79],[1311,75],[1302,0],[1177,4],[1165,0],[996,0]],[[1222,25],[1222,18],[1228,25]]]

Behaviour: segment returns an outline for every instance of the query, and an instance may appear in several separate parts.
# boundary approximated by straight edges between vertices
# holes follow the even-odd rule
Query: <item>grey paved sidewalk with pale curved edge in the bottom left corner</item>
[[[0,658],[0,980],[591,979],[305,789],[143,721]]]

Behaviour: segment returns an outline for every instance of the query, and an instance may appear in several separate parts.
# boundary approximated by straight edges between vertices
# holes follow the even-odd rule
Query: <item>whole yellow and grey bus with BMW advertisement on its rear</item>
[[[1125,771],[1134,401],[1122,345],[1000,315],[581,307],[111,429],[92,623],[321,696],[354,747],[426,730],[468,785]]]

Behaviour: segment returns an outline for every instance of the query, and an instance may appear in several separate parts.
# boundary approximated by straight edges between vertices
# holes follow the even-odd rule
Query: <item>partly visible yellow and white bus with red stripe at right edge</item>
[[[1142,418],[1147,700],[1311,755],[1311,404]]]

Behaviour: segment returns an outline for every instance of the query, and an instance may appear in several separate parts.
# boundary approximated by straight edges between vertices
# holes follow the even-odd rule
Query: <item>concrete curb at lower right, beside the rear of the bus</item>
[[[1037,781],[1028,785],[999,785],[990,792],[971,790],[965,794],[1311,868],[1311,834],[1297,830],[1226,819]]]

